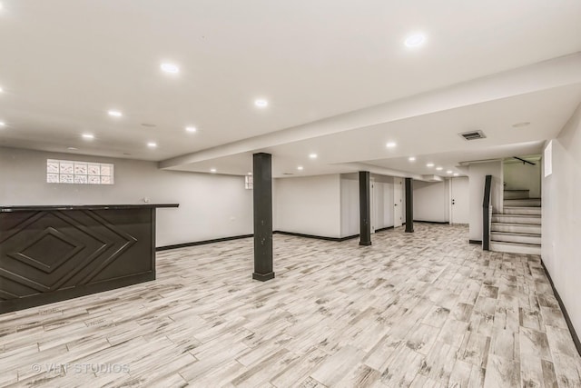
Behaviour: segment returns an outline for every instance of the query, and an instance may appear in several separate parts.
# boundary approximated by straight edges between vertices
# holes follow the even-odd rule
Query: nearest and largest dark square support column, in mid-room
[[[254,204],[254,273],[265,282],[272,272],[272,155],[254,154],[252,159]]]

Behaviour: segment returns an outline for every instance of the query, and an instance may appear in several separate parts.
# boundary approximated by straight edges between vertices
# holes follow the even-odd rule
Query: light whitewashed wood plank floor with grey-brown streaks
[[[373,245],[277,234],[158,254],[158,279],[0,315],[0,385],[581,387],[539,257],[416,224]]]

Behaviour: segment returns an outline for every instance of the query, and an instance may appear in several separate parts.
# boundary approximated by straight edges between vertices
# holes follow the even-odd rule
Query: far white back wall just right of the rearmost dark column
[[[414,181],[414,221],[449,221],[448,181]]]

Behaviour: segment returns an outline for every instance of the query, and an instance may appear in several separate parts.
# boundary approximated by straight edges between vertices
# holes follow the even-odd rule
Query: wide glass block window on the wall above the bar
[[[113,164],[46,160],[49,184],[113,184]]]

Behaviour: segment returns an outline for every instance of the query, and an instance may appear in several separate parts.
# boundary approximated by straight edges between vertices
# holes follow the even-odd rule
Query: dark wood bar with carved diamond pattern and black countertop
[[[159,207],[0,206],[0,313],[155,279]]]

